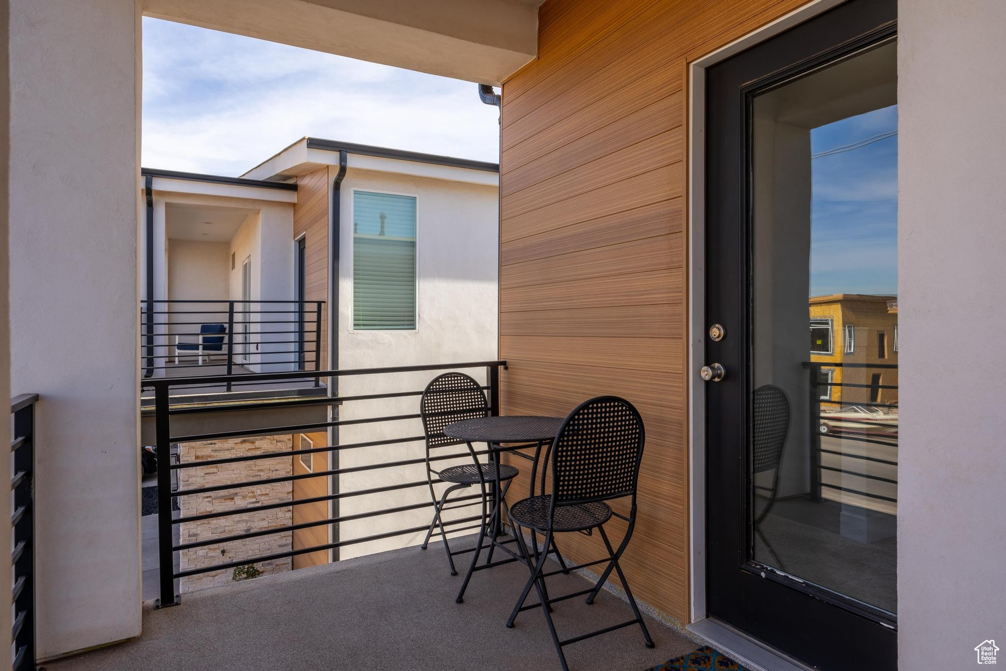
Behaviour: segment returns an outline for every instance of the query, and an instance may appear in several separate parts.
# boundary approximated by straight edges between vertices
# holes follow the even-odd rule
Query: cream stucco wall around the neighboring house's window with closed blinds
[[[337,170],[330,168],[329,180]],[[415,331],[353,331],[353,189],[414,195],[416,202],[416,280],[418,321]],[[497,352],[498,209],[495,186],[393,175],[365,170],[347,171],[342,182],[341,262],[339,269],[339,368],[369,368],[421,363],[484,361]],[[468,370],[485,381],[485,369]],[[379,391],[421,390],[438,372],[344,377],[342,395]],[[381,401],[355,401],[339,409],[340,420],[406,414],[418,411],[414,396]],[[340,444],[384,438],[420,436],[418,420],[342,427]],[[445,454],[445,453],[442,453]],[[423,443],[347,450],[340,468],[382,461],[417,459]],[[467,459],[467,458],[466,458]],[[441,466],[447,466],[441,462]],[[341,476],[341,491],[424,480],[426,466],[382,469]],[[343,499],[340,515],[377,510],[430,498],[425,488]],[[474,509],[451,515],[475,514]],[[428,524],[432,512],[385,515],[340,525],[341,539]],[[396,536],[342,548],[343,558],[392,547],[417,544],[424,534]]]

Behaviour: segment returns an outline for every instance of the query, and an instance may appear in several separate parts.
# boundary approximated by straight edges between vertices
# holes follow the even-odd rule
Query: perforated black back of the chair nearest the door
[[[645,441],[643,418],[625,398],[580,403],[552,446],[553,504],[635,497]]]

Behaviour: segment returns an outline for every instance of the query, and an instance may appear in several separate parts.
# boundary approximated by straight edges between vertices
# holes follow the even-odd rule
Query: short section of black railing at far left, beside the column
[[[13,593],[11,648],[14,671],[34,668],[35,662],[35,401],[37,393],[11,399],[12,492],[11,578]]]

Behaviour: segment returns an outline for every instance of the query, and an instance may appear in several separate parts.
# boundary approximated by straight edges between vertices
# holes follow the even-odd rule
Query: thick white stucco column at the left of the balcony
[[[37,410],[42,658],[140,633],[134,0],[10,2],[11,384]]]

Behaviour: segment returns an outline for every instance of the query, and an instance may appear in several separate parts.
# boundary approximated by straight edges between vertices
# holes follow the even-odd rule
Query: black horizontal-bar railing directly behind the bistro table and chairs
[[[500,407],[500,369],[506,367],[505,361],[476,361],[476,362],[465,362],[465,363],[450,363],[450,364],[430,364],[430,365],[414,365],[414,366],[392,366],[383,368],[360,368],[360,369],[347,369],[347,370],[325,370],[316,372],[294,372],[294,373],[258,373],[252,375],[244,375],[242,379],[254,380],[254,381],[276,381],[276,380],[289,380],[297,378],[310,377],[315,374],[319,374],[322,378],[329,379],[329,389],[337,388],[337,380],[341,377],[346,376],[393,376],[399,373],[414,373],[429,371],[432,374],[439,374],[441,371],[448,370],[471,370],[478,368],[486,369],[486,384],[483,389],[486,391],[490,411],[493,414],[498,414]],[[340,420],[339,414],[333,412],[333,417],[328,422],[318,422],[313,424],[303,424],[303,425],[293,425],[293,426],[279,426],[271,427],[266,429],[249,429],[241,431],[226,431],[226,432],[216,432],[211,434],[199,434],[199,435],[175,435],[172,432],[172,416],[179,414],[188,414],[193,412],[202,411],[203,408],[200,407],[188,407],[188,406],[171,406],[170,405],[170,394],[171,390],[179,385],[185,384],[195,384],[195,385],[207,385],[207,384],[218,384],[220,382],[226,381],[227,376],[215,375],[215,376],[202,376],[197,378],[156,378],[151,381],[151,385],[154,388],[154,411],[155,411],[155,424],[157,432],[157,454],[167,455],[170,453],[171,446],[173,444],[183,444],[192,442],[203,442],[203,441],[216,441],[224,439],[238,439],[245,437],[263,437],[263,436],[291,436],[296,434],[301,434],[305,432],[321,432],[326,431],[329,428],[338,428],[346,426],[356,426],[356,425],[375,425],[375,424],[390,424],[390,425],[400,425],[406,421],[414,421],[420,418],[418,413],[418,397],[423,394],[423,389],[415,389],[414,376],[411,383],[405,382],[406,388],[403,390],[395,391],[383,391],[378,393],[365,393],[365,394],[355,394],[355,395],[344,395],[344,396],[324,396],[317,398],[307,399],[299,404],[304,403],[319,403],[319,404],[338,404],[339,408],[345,407],[349,403],[359,402],[359,401],[374,401],[374,400],[385,400],[385,399],[400,399],[400,398],[415,398],[415,412],[397,413],[397,414],[381,414],[380,416],[368,416],[361,418],[352,420]],[[382,387],[386,387],[386,384],[382,384]],[[426,386],[422,384],[421,386]],[[284,401],[278,401],[275,403],[276,406],[283,404]],[[262,407],[272,407],[274,404],[247,404],[247,407],[262,408]],[[245,404],[235,403],[228,405],[226,410],[239,410],[246,409]],[[412,433],[401,430],[401,433]],[[314,447],[309,449],[301,449],[296,452],[283,451],[283,452],[262,452],[257,454],[242,454],[233,457],[225,457],[220,459],[211,460],[198,460],[191,462],[184,462],[179,460],[177,463],[172,463],[168,459],[158,460],[158,471],[157,471],[157,484],[158,484],[158,534],[159,534],[159,569],[160,569],[160,599],[158,600],[158,607],[163,606],[173,606],[179,603],[180,595],[178,591],[175,590],[175,580],[181,579],[187,576],[192,576],[196,574],[206,573],[210,571],[216,571],[221,569],[231,569],[237,568],[239,566],[246,566],[248,564],[264,562],[264,561],[274,561],[278,559],[283,559],[286,557],[293,557],[299,554],[307,554],[311,552],[328,551],[332,550],[336,554],[339,548],[346,547],[349,545],[365,543],[370,541],[382,540],[385,538],[390,538],[394,536],[402,536],[407,534],[420,533],[427,531],[429,527],[429,522],[423,524],[422,526],[410,526],[406,528],[398,528],[391,531],[384,531],[381,533],[373,533],[365,536],[354,537],[354,538],[343,538],[339,532],[339,525],[344,522],[362,520],[368,518],[374,518],[378,516],[385,515],[396,515],[405,513],[408,511],[415,511],[429,508],[432,510],[433,503],[430,500],[426,500],[422,503],[410,503],[406,505],[395,505],[391,507],[386,507],[370,512],[355,513],[348,515],[340,515],[338,502],[345,499],[350,499],[353,497],[366,496],[371,494],[380,494],[385,492],[393,492],[400,490],[408,490],[421,487],[430,487],[431,482],[427,479],[417,481],[406,481],[398,482],[395,481],[394,476],[400,476],[400,471],[402,467],[415,466],[426,463],[426,452],[424,449],[418,449],[416,443],[422,444],[425,437],[422,435],[402,435],[396,438],[381,438],[379,440],[368,440],[358,443],[350,443],[340,445],[339,441],[334,441],[334,445],[324,446],[324,447]],[[408,452],[408,444],[413,444],[411,451]],[[365,460],[365,463],[360,463],[361,460],[354,459],[353,465],[348,467],[339,466],[339,455],[345,454],[347,451],[354,451],[356,455],[360,454],[359,451],[367,451],[371,448],[386,447],[386,446],[398,446],[402,449],[403,454],[402,459],[396,459],[394,461],[382,461],[377,458],[378,455],[374,455],[374,459]],[[447,446],[443,448],[448,450],[449,448],[455,448],[453,451],[449,451],[448,454],[438,454],[433,457],[433,460],[450,460],[457,459],[459,457],[470,458],[470,453],[464,445],[462,446]],[[373,452],[373,451],[371,451]],[[180,472],[184,469],[199,468],[199,467],[212,467],[212,466],[222,466],[225,464],[234,464],[240,462],[259,461],[264,459],[275,459],[278,457],[296,457],[305,454],[319,454],[319,453],[329,453],[331,458],[329,461],[330,468],[325,471],[312,471],[305,474],[295,474],[291,470],[290,475],[282,475],[279,477],[261,478],[252,481],[240,481],[240,482],[227,482],[223,484],[213,484],[204,487],[195,487],[188,489],[175,489],[172,491],[172,474]],[[367,454],[364,452],[363,454]],[[479,455],[488,454],[488,451],[478,452]],[[515,453],[520,454],[520,453]],[[522,455],[523,456],[523,455]],[[387,483],[381,484],[377,487],[368,487],[366,489],[359,489],[355,491],[340,491],[338,486],[338,476],[348,473],[361,473],[370,471],[383,471],[387,475]],[[398,471],[398,473],[396,473]],[[332,478],[332,486],[329,493],[324,496],[316,496],[312,498],[301,498],[291,500],[283,500],[277,502],[260,503],[259,505],[243,507],[243,508],[232,508],[229,510],[211,510],[208,512],[200,512],[198,514],[190,515],[179,515],[177,517],[172,515],[172,502],[173,500],[188,495],[198,495],[205,494],[209,492],[217,492],[227,489],[237,489],[241,487],[264,487],[266,485],[283,483],[283,482],[295,482],[297,480],[303,480],[307,478],[318,478],[318,477],[330,477]],[[180,479],[179,479],[180,480]],[[400,480],[400,477],[398,478]],[[435,481],[433,485],[436,485]],[[179,485],[181,487],[181,485]],[[465,508],[473,505],[481,505],[481,494],[471,495],[471,496],[461,496],[452,499],[452,506],[450,509],[455,508]],[[187,522],[196,522],[205,519],[228,517],[232,515],[243,515],[248,513],[256,513],[266,510],[273,510],[277,508],[293,507],[305,504],[314,503],[325,503],[331,502],[332,511],[330,517],[325,517],[324,519],[312,520],[308,522],[301,523],[291,523],[285,526],[267,528],[267,529],[257,529],[244,531],[242,533],[235,533],[226,536],[216,536],[212,538],[199,538],[197,540],[192,540],[189,542],[178,542],[176,543],[173,539],[173,530],[176,526],[180,524],[185,524]],[[293,520],[291,519],[291,522]],[[458,532],[476,529],[481,523],[481,515],[470,515],[461,517],[459,519],[454,519],[445,522],[445,527],[448,529],[445,533]],[[193,550],[199,547],[205,547],[207,545],[227,543],[233,541],[240,541],[247,538],[256,538],[266,535],[280,534],[280,533],[292,533],[298,530],[303,530],[311,527],[317,527],[322,525],[331,525],[333,529],[332,536],[330,538],[331,542],[314,545],[310,547],[302,547],[294,549],[291,546],[290,550],[282,552],[272,552],[261,556],[242,557],[235,560],[221,561],[212,565],[199,566],[196,568],[179,569],[174,568],[174,553],[181,552],[185,550]],[[467,526],[466,526],[467,525]],[[180,528],[180,527],[179,527]],[[440,533],[435,533],[435,536],[440,535]],[[463,550],[464,551],[464,550]],[[459,552],[460,553],[460,552]]]

